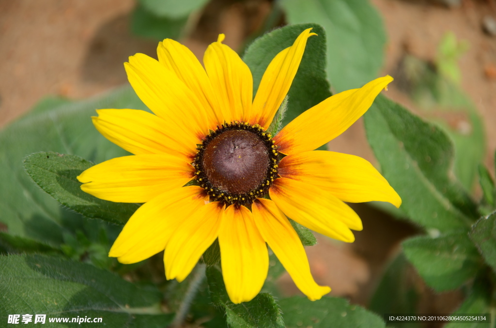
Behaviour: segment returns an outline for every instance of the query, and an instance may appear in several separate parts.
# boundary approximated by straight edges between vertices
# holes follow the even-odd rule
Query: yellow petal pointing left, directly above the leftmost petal
[[[97,113],[92,117],[97,130],[132,154],[166,153],[188,160],[196,154],[196,145],[177,138],[157,115],[136,109],[97,109]]]

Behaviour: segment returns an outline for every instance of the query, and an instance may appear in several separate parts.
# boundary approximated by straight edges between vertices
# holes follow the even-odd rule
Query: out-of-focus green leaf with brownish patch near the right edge
[[[472,190],[477,165],[486,151],[484,124],[470,97],[443,76],[439,67],[432,66],[431,62],[406,55],[397,85],[453,141],[453,172],[466,189]]]

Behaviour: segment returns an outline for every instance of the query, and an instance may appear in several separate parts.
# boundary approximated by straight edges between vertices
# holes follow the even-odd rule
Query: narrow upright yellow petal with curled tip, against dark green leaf
[[[251,115],[248,117],[251,124],[260,124],[265,129],[269,127],[293,83],[308,38],[316,35],[310,31],[311,28],[303,31],[293,46],[277,54],[267,66],[253,100]]]

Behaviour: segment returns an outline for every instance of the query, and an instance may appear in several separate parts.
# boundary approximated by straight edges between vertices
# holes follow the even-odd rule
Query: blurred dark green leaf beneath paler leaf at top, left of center
[[[182,2],[182,1],[178,1]],[[134,9],[131,17],[132,33],[144,38],[162,41],[166,38],[180,39],[186,28],[188,17],[160,17],[142,5]]]

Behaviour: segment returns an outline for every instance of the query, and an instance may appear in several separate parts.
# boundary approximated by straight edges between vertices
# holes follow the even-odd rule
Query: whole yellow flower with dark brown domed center
[[[266,129],[288,93],[307,39],[315,35],[310,30],[272,59],[253,101],[251,72],[222,44],[222,34],[206,50],[205,68],[169,39],[159,44],[158,61],[143,54],[129,57],[124,64],[129,82],[155,115],[97,110],[98,131],[134,156],[78,176],[81,189],[98,198],[145,203],[109,256],[136,263],[165,249],[167,279],[182,281],[218,238],[227,292],[241,303],[264,283],[268,244],[310,300],[330,291],[313,280],[287,217],[353,242],[350,229],[361,230],[362,222],[344,202],[400,206],[398,194],[366,160],[313,151],[362,116],[392,78],[329,97],[272,137]],[[185,186],[193,179],[196,185]]]

